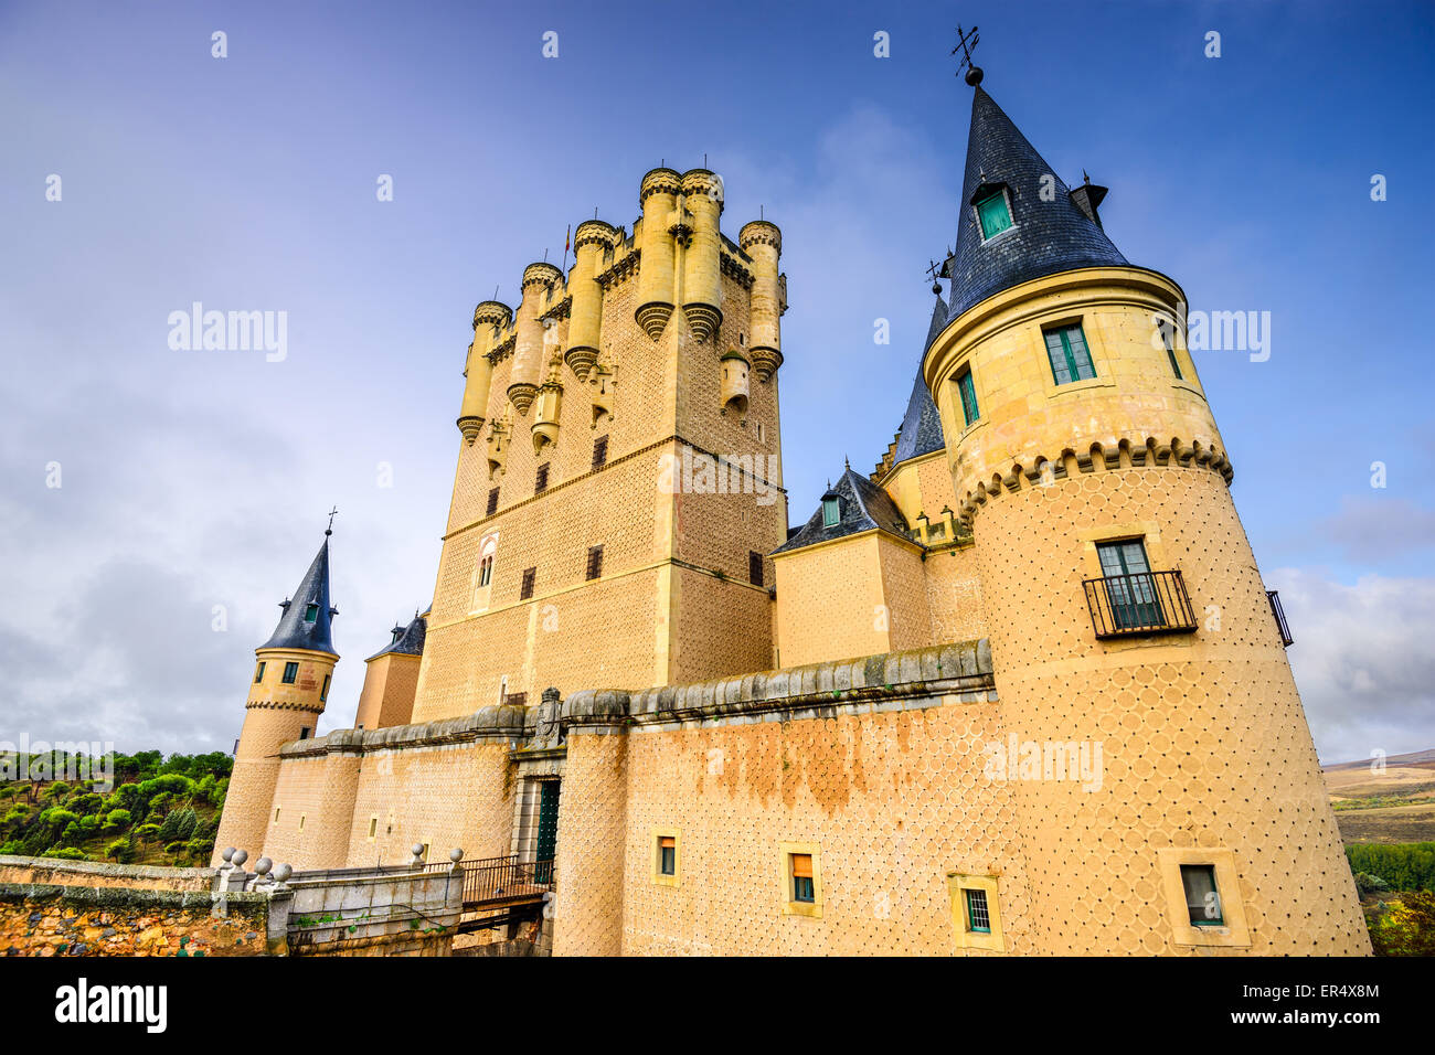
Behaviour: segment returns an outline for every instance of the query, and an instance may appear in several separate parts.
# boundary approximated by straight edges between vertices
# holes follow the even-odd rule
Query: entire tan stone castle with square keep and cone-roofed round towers
[[[475,309],[432,607],[314,736],[324,540],[218,847],[551,861],[557,955],[1369,952],[1184,293],[969,83],[875,469],[788,528],[781,231],[653,169]]]

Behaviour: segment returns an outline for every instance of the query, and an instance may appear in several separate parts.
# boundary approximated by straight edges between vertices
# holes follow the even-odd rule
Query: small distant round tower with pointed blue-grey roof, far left
[[[225,847],[247,850],[251,861],[258,858],[273,820],[268,811],[278,781],[278,749],[311,736],[324,713],[339,662],[333,642],[339,610],[329,600],[330,534],[324,531],[309,571],[293,596],[280,603],[284,614],[273,636],[254,650],[254,680],[214,843],[214,866]]]

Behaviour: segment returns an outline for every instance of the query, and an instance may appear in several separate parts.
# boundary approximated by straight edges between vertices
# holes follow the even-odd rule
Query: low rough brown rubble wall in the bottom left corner
[[[0,956],[264,956],[270,901],[208,891],[0,883]]]

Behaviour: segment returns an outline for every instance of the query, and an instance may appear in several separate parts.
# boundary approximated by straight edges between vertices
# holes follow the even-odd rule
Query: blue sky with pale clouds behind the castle
[[[905,409],[959,22],[1128,260],[1270,313],[1264,362],[1195,357],[1322,759],[1435,746],[1435,6],[1065,0],[0,1],[0,741],[230,749],[334,505],[350,725],[432,599],[474,304],[660,162],[782,227],[805,520]],[[195,301],[286,313],[284,357],[172,349]]]

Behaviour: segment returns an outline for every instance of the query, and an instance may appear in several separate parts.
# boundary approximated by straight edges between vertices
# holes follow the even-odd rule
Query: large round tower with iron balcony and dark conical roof
[[[1030,952],[1368,952],[1185,294],[1122,257],[1104,197],[976,85],[923,375],[1003,728],[1104,762],[1095,789],[1016,781]]]

